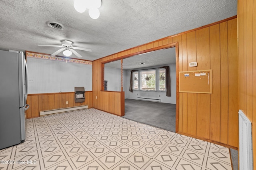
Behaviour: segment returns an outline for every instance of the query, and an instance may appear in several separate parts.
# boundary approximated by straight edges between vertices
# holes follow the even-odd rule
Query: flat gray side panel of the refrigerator
[[[18,55],[0,51],[0,149],[21,141]]]

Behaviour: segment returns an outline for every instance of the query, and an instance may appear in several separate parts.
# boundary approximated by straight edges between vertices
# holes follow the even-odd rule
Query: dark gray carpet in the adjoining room
[[[176,104],[125,99],[126,119],[175,132]]]

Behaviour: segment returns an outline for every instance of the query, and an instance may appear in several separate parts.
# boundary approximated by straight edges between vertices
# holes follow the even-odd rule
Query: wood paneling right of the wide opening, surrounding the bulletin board
[[[213,82],[212,94],[180,93],[178,131],[238,148],[236,18],[176,38],[180,71],[212,69]],[[198,67],[188,67],[192,61]]]

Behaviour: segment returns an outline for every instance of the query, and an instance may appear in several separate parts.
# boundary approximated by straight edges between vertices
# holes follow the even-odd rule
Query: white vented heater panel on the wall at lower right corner
[[[252,170],[253,169],[253,155],[252,155],[252,123],[239,110],[239,169]]]

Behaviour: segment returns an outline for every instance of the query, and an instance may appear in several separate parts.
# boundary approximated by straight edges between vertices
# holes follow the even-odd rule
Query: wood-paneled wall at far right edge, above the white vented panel
[[[252,122],[254,170],[256,169],[256,3],[238,0],[239,109]]]

